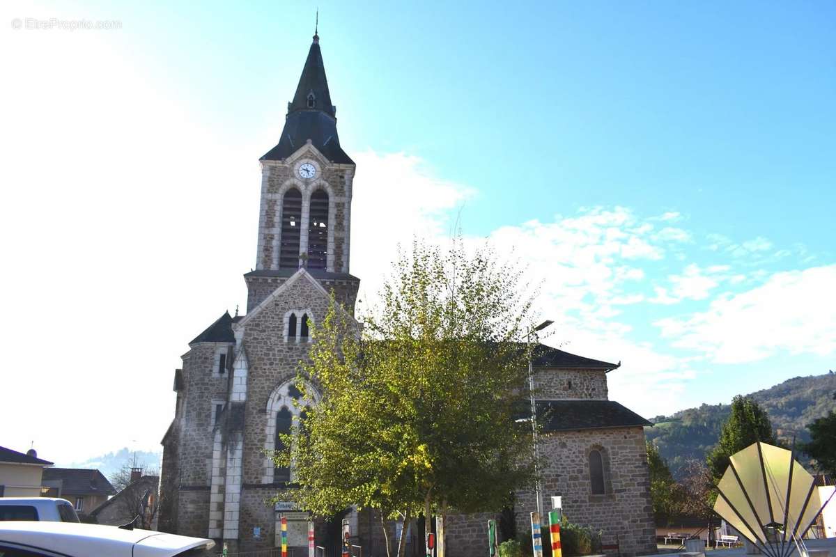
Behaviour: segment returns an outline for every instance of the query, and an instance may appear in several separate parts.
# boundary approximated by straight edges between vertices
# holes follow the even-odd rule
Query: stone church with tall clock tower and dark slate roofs
[[[270,454],[299,412],[293,381],[310,347],[309,323],[324,316],[331,292],[353,315],[359,289],[349,272],[356,167],[339,144],[336,113],[314,34],[282,135],[260,159],[247,311],[225,312],[206,327],[174,373],[176,408],[162,438],[160,529],[216,539],[230,554],[280,545],[284,516],[293,555],[307,555],[308,514],[281,502],[293,469],[277,468]],[[535,352],[538,415],[548,416],[538,441],[542,508],[559,495],[568,519],[601,530],[607,553],[655,553],[643,429],[649,423],[609,400],[607,374],[618,367],[542,345]],[[277,496],[278,503],[269,502]],[[537,506],[533,490],[515,494],[517,534],[530,531],[528,513]],[[447,554],[487,554],[486,521],[497,516],[449,516]],[[315,521],[316,544],[329,557],[339,552],[342,519],[364,555],[386,554],[379,519],[346,509]],[[393,524],[390,538],[400,528]],[[421,554],[423,539],[410,534],[408,541],[407,555]]]

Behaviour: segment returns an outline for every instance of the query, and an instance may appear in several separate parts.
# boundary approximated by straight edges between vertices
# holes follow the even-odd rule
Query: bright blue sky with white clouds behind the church
[[[177,357],[245,301],[257,158],[316,8],[368,291],[396,241],[459,217],[542,281],[547,342],[623,361],[611,396],[647,416],[834,367],[833,3],[11,2],[0,180],[20,240],[3,296],[21,317],[3,327],[30,369],[11,387],[52,384],[66,403],[97,385],[105,409],[128,389],[160,411],[131,439],[74,447],[44,422],[9,446],[157,446]],[[34,366],[33,331],[53,347]],[[83,370],[56,372],[79,347]]]

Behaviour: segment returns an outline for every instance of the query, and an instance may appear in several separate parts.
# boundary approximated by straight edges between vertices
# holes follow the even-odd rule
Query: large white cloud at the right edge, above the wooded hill
[[[757,362],[777,352],[836,351],[836,265],[773,274],[750,291],[726,294],[707,311],[655,323],[675,347],[719,363]]]

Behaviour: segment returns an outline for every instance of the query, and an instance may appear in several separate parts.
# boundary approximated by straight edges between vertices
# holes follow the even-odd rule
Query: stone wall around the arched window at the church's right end
[[[589,451],[593,448],[604,457],[604,495],[591,493]],[[650,472],[642,428],[550,433],[540,438],[539,454],[544,511],[550,507],[551,496],[561,495],[567,518],[603,530],[604,545],[615,544],[617,536],[621,554],[655,552]],[[517,531],[530,529],[528,513],[534,509],[533,490],[517,493]]]

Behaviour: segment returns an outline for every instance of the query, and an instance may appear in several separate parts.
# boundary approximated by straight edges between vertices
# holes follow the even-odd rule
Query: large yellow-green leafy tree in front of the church
[[[533,462],[519,458],[532,453],[530,426],[513,419],[528,398],[530,354],[519,276],[461,241],[447,251],[414,242],[361,330],[332,300],[303,363],[321,400],[277,456],[296,470],[301,507],[328,516],[357,504],[406,524],[498,511],[532,483]]]

